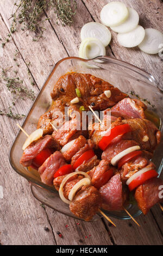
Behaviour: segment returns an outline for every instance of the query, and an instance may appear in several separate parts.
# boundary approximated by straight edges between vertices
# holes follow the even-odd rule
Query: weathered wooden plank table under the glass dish
[[[0,1],[0,37],[2,41],[9,33],[10,14],[15,0]],[[3,49],[0,57],[1,68],[10,69],[10,77],[22,78],[24,84],[39,92],[52,65],[67,56],[78,56],[80,45],[80,29],[86,22],[99,21],[101,8],[106,0],[78,0],[77,15],[74,25],[63,27],[56,25],[55,15],[49,11],[45,14],[51,17],[45,22],[46,31],[43,37],[33,42],[31,33],[22,33],[18,29]],[[136,9],[140,15],[140,25],[145,28],[163,28],[163,4],[159,0],[122,1]],[[163,32],[163,31],[162,31]],[[124,48],[117,44],[116,33],[111,32],[112,40],[107,47],[108,56],[125,60],[131,64],[151,72],[159,83],[162,83],[163,65],[158,56],[149,56],[138,48]],[[14,53],[16,61],[14,61]],[[27,63],[35,86],[30,84]],[[18,65],[17,65],[18,64]],[[11,105],[11,94],[1,82],[1,109]],[[26,114],[32,101],[18,101],[15,112]],[[2,245],[161,245],[163,242],[162,212],[158,205],[149,211],[147,216],[136,218],[141,227],[133,221],[121,221],[112,218],[117,227],[109,225],[105,220],[98,223],[86,223],[64,216],[57,211],[43,208],[30,192],[26,179],[16,174],[11,168],[8,153],[10,145],[18,131],[17,120],[4,115],[1,118],[1,169],[0,186],[3,187],[4,198],[0,199],[0,244]],[[22,119],[19,120],[22,123]],[[79,224],[77,224],[79,222]],[[67,226],[68,225],[68,226]],[[60,238],[57,231],[63,235]]]

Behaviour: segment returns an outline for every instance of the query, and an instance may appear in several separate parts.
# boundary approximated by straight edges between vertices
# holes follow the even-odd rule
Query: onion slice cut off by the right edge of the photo
[[[140,50],[148,54],[158,53],[163,44],[163,34],[154,28],[147,28],[145,32],[145,38],[139,45]]]

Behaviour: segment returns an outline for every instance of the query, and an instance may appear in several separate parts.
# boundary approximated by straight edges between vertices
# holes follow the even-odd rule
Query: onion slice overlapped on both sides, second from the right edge
[[[145,29],[138,25],[133,31],[117,35],[118,43],[124,47],[135,47],[145,38]]]

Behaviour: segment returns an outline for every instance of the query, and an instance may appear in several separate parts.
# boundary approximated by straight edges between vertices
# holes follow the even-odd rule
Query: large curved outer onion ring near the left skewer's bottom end
[[[59,196],[62,199],[62,201],[65,202],[66,204],[70,204],[71,201],[67,200],[65,198],[63,188],[64,188],[64,185],[65,185],[66,181],[68,179],[70,179],[73,175],[76,175],[76,174],[82,174],[82,175],[84,175],[86,178],[88,178],[91,181],[90,176],[87,173],[84,173],[84,172],[73,172],[73,173],[67,174],[66,177],[62,180],[62,182],[60,184],[60,187],[59,187]]]

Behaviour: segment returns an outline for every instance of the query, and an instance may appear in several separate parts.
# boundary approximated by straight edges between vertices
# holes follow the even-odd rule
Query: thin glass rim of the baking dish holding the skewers
[[[156,82],[155,78],[153,77],[152,74],[149,74],[148,72],[140,69],[139,67],[133,65],[133,64],[130,64],[130,63],[127,63],[127,62],[124,62],[123,60],[119,60],[119,59],[116,59],[116,58],[112,58],[112,57],[109,57],[109,56],[98,56],[96,58],[93,58],[93,59],[82,59],[82,58],[79,58],[79,57],[66,57],[66,58],[62,58],[60,59],[57,63],[54,64],[51,72],[49,72],[49,75],[47,76],[45,82],[42,84],[40,90],[39,90],[39,93],[37,94],[35,100],[33,101],[32,105],[30,106],[27,114],[26,114],[26,118],[23,120],[23,123],[22,123],[22,127],[24,125],[24,123],[26,123],[26,119],[28,118],[28,114],[30,113],[31,109],[33,108],[34,104],[35,104],[35,101],[37,100],[37,98],[39,97],[40,93],[42,92],[42,89],[45,87],[45,84],[48,82],[48,80],[50,80],[52,74],[55,72],[55,70],[57,69],[57,67],[59,66],[60,63],[64,62],[65,60],[71,60],[71,59],[76,59],[76,60],[80,60],[82,62],[91,62],[91,61],[95,61],[97,59],[101,59],[101,60],[104,60],[106,62],[110,62],[112,64],[116,64],[116,65],[120,65],[120,66],[123,66],[124,68],[128,69],[128,70],[131,70],[131,71],[134,71],[134,72],[137,72],[137,74],[141,75],[142,77],[146,78],[148,81],[150,82],[153,82],[156,84],[156,86],[154,86],[153,84],[149,83],[148,86],[149,87],[153,87],[155,89],[158,90],[159,93],[162,93],[162,90],[159,88],[159,84],[158,82]],[[96,64],[98,64],[96,62]],[[95,65],[96,65],[95,64]],[[91,73],[91,72],[90,72]],[[135,79],[135,78],[134,78]],[[151,81],[152,80],[152,81]],[[20,134],[21,130],[18,130],[15,138],[14,138],[14,141],[12,142],[11,146],[10,146],[10,150],[9,150],[9,162],[11,164],[11,167],[15,170],[15,172],[21,176],[23,176],[23,178],[25,178],[26,180],[28,180],[30,182],[30,184],[33,184],[33,185],[36,185],[36,186],[39,186],[39,187],[42,187],[50,192],[53,192],[53,193],[58,193],[53,187],[50,187],[46,184],[43,184],[42,182],[40,181],[36,181],[36,180],[33,180],[32,177],[28,177],[26,176],[26,174],[24,173],[20,173],[19,170],[14,166],[14,164],[12,164],[12,161],[11,161],[11,151],[12,151],[12,147],[13,145],[15,144],[15,141],[17,139],[17,136]],[[159,174],[160,175],[160,174]],[[32,193],[33,194],[33,193]],[[34,196],[34,194],[33,194]],[[41,202],[41,201],[40,201]],[[48,205],[49,206],[49,205]],[[51,207],[51,206],[49,206]],[[57,210],[58,211],[58,210]],[[115,217],[114,215],[111,214],[111,212],[109,211],[105,211],[103,210],[104,212],[106,212],[109,216],[112,216],[112,217]],[[60,212],[60,211],[59,211]],[[137,214],[135,214],[134,217],[137,217],[139,216],[140,214],[142,214],[141,210],[139,210],[139,212],[137,212]],[[74,217],[76,218],[76,217]],[[121,220],[127,220],[127,219],[130,219],[129,216],[127,217],[120,217],[120,216],[117,216],[116,218],[118,219],[121,219]]]

